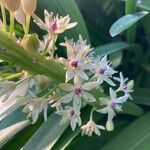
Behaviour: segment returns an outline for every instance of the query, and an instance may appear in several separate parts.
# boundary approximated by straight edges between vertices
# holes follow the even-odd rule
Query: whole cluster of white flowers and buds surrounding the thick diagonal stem
[[[29,54],[39,53],[44,59],[60,63],[66,71],[65,81],[58,85],[45,75],[31,75],[24,71],[17,82],[1,80],[0,120],[23,106],[23,112],[28,114],[27,118],[32,118],[32,123],[38,120],[41,112],[44,112],[46,121],[47,110],[51,105],[52,108],[56,108],[56,114],[62,117],[61,124],[70,123],[72,130],[80,126],[82,135],[91,136],[94,132],[100,136],[100,130],[105,130],[105,128],[112,131],[114,129],[113,118],[116,113],[122,111],[124,102],[132,99],[134,82],[128,81],[122,73],[117,76],[118,72],[112,68],[108,60],[109,56],[94,57],[94,50],[81,35],[77,41],[65,38],[65,42],[60,43],[60,46],[65,47],[67,57],[58,58],[55,55],[58,36],[75,27],[77,23],[70,22],[69,15],[55,16],[47,10],[44,11],[45,18],[42,21],[34,14],[37,0],[15,1],[16,3],[14,0],[4,0],[1,5],[4,4],[9,10],[11,21],[15,17],[22,24],[25,34],[22,39],[17,39],[13,30],[14,22],[10,22],[10,36],[15,37],[17,44]],[[47,31],[41,41],[37,34],[29,34],[31,17],[41,29]],[[4,27],[4,22],[5,18],[2,23],[0,21],[0,26]],[[103,89],[103,84],[109,90],[108,95],[107,90]],[[46,90],[46,94],[43,90]],[[92,111],[89,121],[82,125],[82,109],[87,105],[92,107]],[[94,121],[94,112],[107,114],[105,125],[98,125]]]

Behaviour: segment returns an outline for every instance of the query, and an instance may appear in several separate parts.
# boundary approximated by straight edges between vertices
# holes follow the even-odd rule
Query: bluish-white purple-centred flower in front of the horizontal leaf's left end
[[[104,56],[102,59],[97,59],[95,62],[95,73],[97,77],[97,81],[102,84],[104,81],[110,84],[111,86],[115,86],[115,84],[110,79],[113,74],[116,73],[113,68],[110,67],[109,61],[107,61],[107,56]]]

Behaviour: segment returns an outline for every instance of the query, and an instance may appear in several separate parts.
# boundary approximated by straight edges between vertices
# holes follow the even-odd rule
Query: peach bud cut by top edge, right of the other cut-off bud
[[[37,0],[21,0],[21,5],[25,14],[31,16],[36,10]]]

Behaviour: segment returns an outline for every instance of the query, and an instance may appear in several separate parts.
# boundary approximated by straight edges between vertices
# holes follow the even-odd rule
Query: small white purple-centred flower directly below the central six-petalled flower
[[[60,110],[56,113],[62,116],[61,125],[70,121],[70,125],[73,131],[75,130],[77,124],[79,126],[82,124],[80,118],[80,109],[74,109],[73,107],[66,106],[65,110]]]

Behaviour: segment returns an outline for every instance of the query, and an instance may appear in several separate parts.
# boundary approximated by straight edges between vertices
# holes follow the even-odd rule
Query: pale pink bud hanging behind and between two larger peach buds
[[[16,12],[15,12],[15,19],[25,26],[26,24],[26,14],[24,13],[22,7],[20,7]]]

